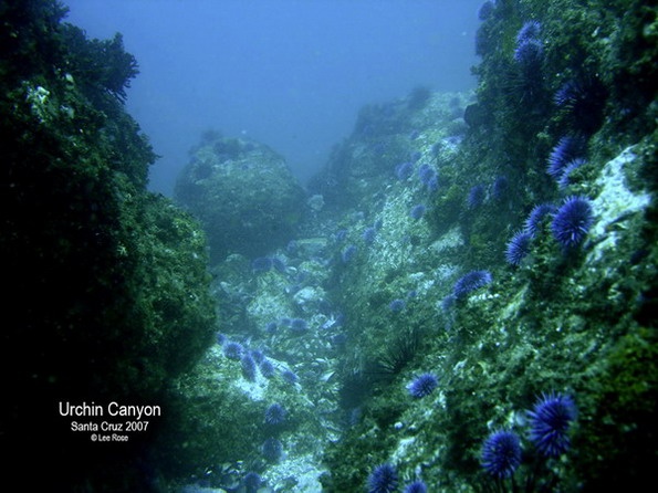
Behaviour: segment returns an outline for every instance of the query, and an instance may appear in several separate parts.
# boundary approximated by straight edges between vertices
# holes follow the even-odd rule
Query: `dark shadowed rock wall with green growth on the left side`
[[[0,9],[3,452],[53,489],[145,491],[136,464],[157,423],[97,447],[59,405],[165,406],[211,340],[206,242],[146,191],[156,156],[122,105],[134,57],[64,14],[50,0]]]

